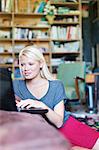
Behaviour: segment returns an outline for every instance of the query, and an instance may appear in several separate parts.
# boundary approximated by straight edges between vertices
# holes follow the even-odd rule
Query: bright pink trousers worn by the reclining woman
[[[92,148],[99,138],[99,132],[72,116],[58,129],[75,146]]]

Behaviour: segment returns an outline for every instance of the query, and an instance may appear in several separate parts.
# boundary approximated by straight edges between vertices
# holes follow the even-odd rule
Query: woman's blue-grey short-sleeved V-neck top
[[[54,107],[62,100],[66,103],[67,97],[65,94],[65,88],[63,83],[59,80],[49,81],[49,88],[47,93],[40,99],[37,99],[34,95],[28,90],[25,80],[14,80],[13,87],[15,95],[20,97],[22,100],[33,99],[39,100],[45,103],[49,108],[54,109]],[[64,122],[70,116],[70,112],[64,112]]]

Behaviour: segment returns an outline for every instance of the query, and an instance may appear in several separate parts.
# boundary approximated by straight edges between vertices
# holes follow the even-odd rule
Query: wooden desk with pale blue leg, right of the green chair
[[[91,73],[91,74],[86,75],[86,83],[87,83],[88,90],[89,90],[89,106],[88,106],[89,113],[97,112],[98,76],[99,76],[99,73]],[[92,85],[94,85],[94,93],[95,93],[94,97],[93,97]]]

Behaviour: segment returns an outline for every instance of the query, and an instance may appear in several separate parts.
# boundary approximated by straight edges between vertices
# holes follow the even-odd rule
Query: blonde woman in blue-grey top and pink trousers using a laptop
[[[21,99],[16,100],[17,107],[48,109],[48,120],[73,145],[98,150],[99,133],[65,111],[64,86],[61,81],[53,79],[40,50],[34,46],[23,48],[19,54],[19,66],[24,80],[13,82],[15,95]]]

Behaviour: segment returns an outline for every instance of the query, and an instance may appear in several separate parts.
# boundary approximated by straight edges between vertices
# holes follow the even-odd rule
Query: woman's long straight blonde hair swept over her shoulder
[[[27,57],[35,58],[37,61],[43,61],[43,67],[40,70],[41,77],[48,79],[48,80],[54,80],[52,74],[49,72],[49,69],[47,67],[45,58],[42,54],[42,52],[37,48],[37,46],[30,45],[23,48],[19,53],[19,65],[20,65],[20,59],[21,56],[25,55]],[[21,68],[21,66],[20,66]],[[21,70],[20,70],[21,71]]]

